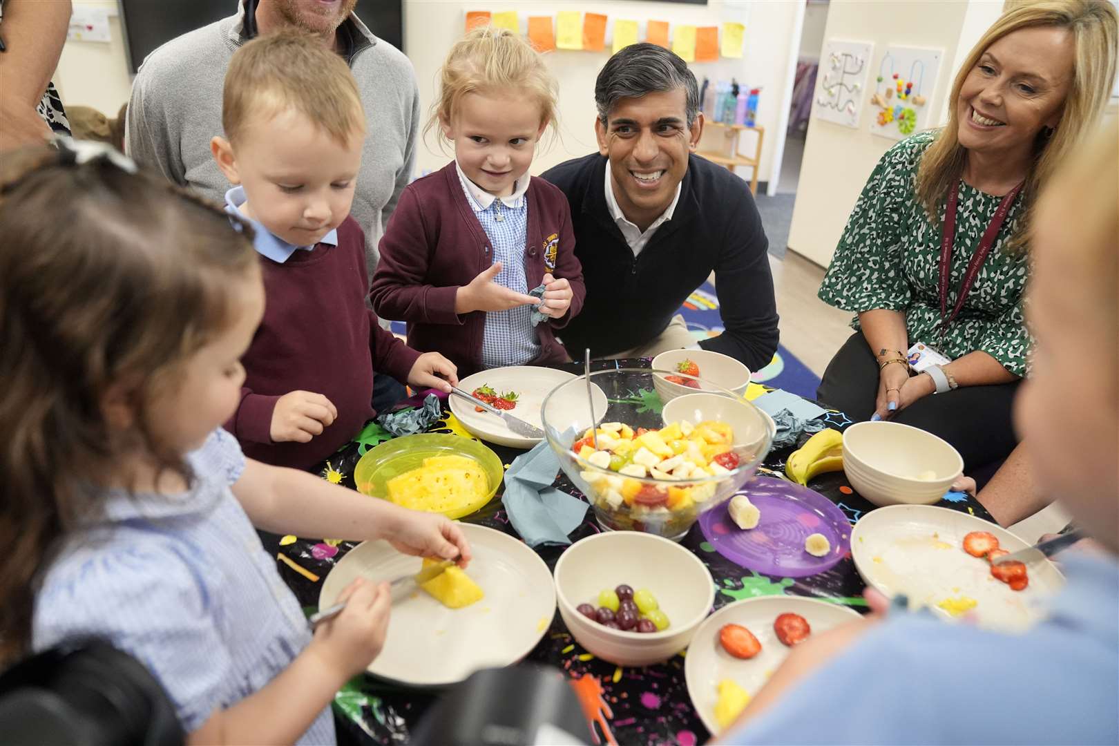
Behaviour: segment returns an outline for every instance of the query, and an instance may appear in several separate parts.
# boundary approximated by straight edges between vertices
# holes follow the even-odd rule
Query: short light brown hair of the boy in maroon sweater
[[[236,143],[251,117],[294,108],[336,141],[365,133],[357,82],[342,58],[316,38],[280,31],[253,39],[233,55],[225,73],[222,128]]]

